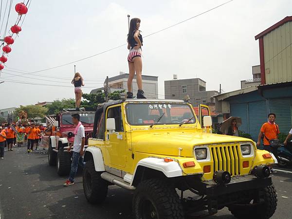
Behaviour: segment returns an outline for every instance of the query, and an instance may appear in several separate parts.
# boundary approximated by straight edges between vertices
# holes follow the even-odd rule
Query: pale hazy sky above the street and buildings
[[[140,29],[146,36],[225,1],[32,0],[6,65],[27,72],[58,66],[126,43],[128,14],[131,18],[141,18]],[[254,37],[290,16],[291,8],[291,0],[234,0],[147,37],[143,47],[143,74],[159,76],[159,94],[164,94],[164,80],[172,79],[173,74],[178,74],[179,79],[200,77],[207,82],[207,90],[219,90],[219,83],[224,91],[237,90],[240,80],[250,79],[252,66],[259,64],[258,41]],[[8,27],[16,18],[13,8]],[[127,73],[127,55],[127,47],[123,47],[77,62],[76,70],[89,87],[84,92],[90,92],[91,87],[101,87],[107,75]],[[0,109],[74,97],[70,80],[59,79],[72,78],[73,65],[37,73],[55,78],[26,75],[52,82],[9,77],[22,82],[69,87],[4,82],[0,84],[3,93]],[[11,76],[4,72],[13,73],[6,69],[0,81]]]

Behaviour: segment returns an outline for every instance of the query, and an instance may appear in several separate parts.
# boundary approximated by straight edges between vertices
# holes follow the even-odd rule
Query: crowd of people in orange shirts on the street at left
[[[13,151],[13,147],[27,145],[27,152],[37,150],[47,128],[43,124],[2,124],[0,126],[0,159],[4,159],[4,148]]]

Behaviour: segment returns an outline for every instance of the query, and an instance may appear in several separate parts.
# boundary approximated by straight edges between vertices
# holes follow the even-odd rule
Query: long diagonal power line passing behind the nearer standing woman
[[[202,13],[200,13],[200,14],[198,14],[198,15],[195,15],[195,16],[193,16],[193,17],[191,17],[191,18],[187,18],[187,19],[185,19],[185,20],[183,20],[183,21],[180,21],[180,22],[178,22],[178,23],[175,23],[175,24],[173,24],[173,25],[171,25],[171,26],[168,26],[168,27],[166,27],[166,28],[164,28],[164,29],[161,29],[161,30],[159,30],[159,31],[153,32],[153,33],[151,33],[151,34],[149,34],[149,35],[147,35],[147,36],[145,36],[145,37],[152,36],[152,35],[154,35],[154,34],[157,34],[157,33],[160,33],[160,32],[162,32],[162,31],[164,31],[164,30],[167,30],[167,29],[169,29],[169,28],[171,28],[171,27],[177,26],[177,25],[179,25],[179,24],[181,24],[181,23],[183,23],[183,22],[185,22],[185,21],[188,21],[188,20],[193,19],[193,18],[197,18],[198,16],[203,15],[203,14],[206,14],[206,13],[212,11],[212,10],[215,10],[215,9],[217,9],[217,8],[223,6],[223,5],[225,5],[225,4],[227,4],[227,3],[231,2],[231,1],[233,1],[233,0],[226,1],[225,3],[222,3],[222,4],[220,4],[220,5],[216,6],[216,7],[213,7],[213,8],[211,8],[211,9],[207,10],[207,11],[204,11],[204,12],[202,12]],[[144,37],[144,38],[145,38],[145,37]],[[127,45],[127,43],[124,43],[124,44],[122,44],[122,45],[119,45],[119,46],[113,47],[113,48],[111,48],[111,49],[105,50],[105,51],[100,52],[100,53],[95,54],[95,55],[90,55],[90,56],[87,56],[87,57],[85,57],[85,58],[81,58],[81,59],[78,59],[78,60],[75,60],[75,61],[72,61],[72,62],[68,62],[68,63],[62,64],[62,65],[58,65],[58,66],[51,67],[51,68],[47,68],[47,69],[42,69],[42,70],[39,70],[39,71],[30,72],[30,73],[23,73],[23,74],[21,74],[21,75],[24,75],[24,74],[32,74],[32,73],[39,73],[39,72],[44,72],[44,71],[48,71],[48,70],[52,70],[52,69],[56,69],[56,68],[60,68],[60,67],[66,66],[66,65],[70,65],[70,64],[73,64],[73,63],[79,62],[79,61],[83,61],[83,60],[88,59],[88,58],[92,58],[92,57],[97,56],[97,55],[101,55],[101,54],[104,54],[104,53],[110,52],[110,51],[112,51],[112,50],[118,49],[118,48],[123,47],[123,46],[126,46],[126,45]]]

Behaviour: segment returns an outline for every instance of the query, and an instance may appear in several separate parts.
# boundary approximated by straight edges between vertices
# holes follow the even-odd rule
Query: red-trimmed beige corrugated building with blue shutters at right
[[[281,133],[292,128],[291,30],[292,17],[286,17],[255,37],[259,39],[260,85],[216,96],[224,118],[241,117],[239,129],[254,141],[269,113],[276,114]]]

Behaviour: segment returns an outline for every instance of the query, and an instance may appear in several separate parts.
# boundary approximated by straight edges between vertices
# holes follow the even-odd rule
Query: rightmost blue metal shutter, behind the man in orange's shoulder
[[[270,112],[276,114],[276,124],[279,125],[280,132],[288,133],[292,128],[291,100],[270,99]]]

